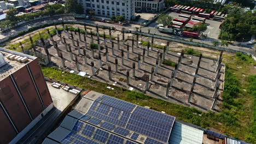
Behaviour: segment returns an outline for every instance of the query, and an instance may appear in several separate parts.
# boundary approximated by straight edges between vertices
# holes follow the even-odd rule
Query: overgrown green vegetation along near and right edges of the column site
[[[191,50],[189,50],[191,51]],[[192,51],[194,53],[194,51]],[[114,87],[109,90],[106,83],[87,79],[71,73],[62,73],[62,70],[53,67],[42,67],[45,76],[67,82],[71,85],[100,92],[131,103],[149,106],[150,109],[165,111],[182,121],[199,125],[202,128],[214,128],[222,133],[234,136],[236,139],[250,143],[256,142],[255,137],[255,93],[256,76],[243,79],[242,74],[248,73],[249,66],[256,65],[250,56],[238,53],[236,56],[224,56],[226,61],[225,88],[223,93],[223,107],[219,113],[201,112],[191,107],[172,104],[167,101],[149,97],[139,92]],[[244,59],[244,60],[242,60]],[[242,65],[243,68],[237,68]],[[246,88],[247,91],[242,89]],[[253,111],[254,110],[254,111]],[[254,115],[254,117],[253,117]]]

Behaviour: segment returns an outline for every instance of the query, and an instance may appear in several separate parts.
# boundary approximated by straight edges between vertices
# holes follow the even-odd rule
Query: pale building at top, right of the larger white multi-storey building
[[[159,12],[164,9],[164,0],[135,0],[136,11]]]

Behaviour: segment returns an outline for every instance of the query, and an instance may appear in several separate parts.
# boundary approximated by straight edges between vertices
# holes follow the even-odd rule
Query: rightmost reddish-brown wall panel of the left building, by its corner
[[[36,82],[38,91],[42,97],[44,106],[46,108],[51,103],[53,103],[53,100],[51,99],[51,95],[44,80],[44,76],[40,68],[40,65],[38,65],[38,60],[35,59],[34,61],[30,62],[28,66],[30,67],[31,73],[34,77],[34,81]]]

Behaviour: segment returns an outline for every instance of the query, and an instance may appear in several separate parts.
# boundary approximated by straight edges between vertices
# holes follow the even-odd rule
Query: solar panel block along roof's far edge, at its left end
[[[115,108],[123,110],[123,111],[132,112],[132,110],[135,107],[135,105],[133,105],[133,104],[127,103],[123,100],[108,97],[107,95],[103,95],[102,97],[103,97],[103,99],[102,99],[101,103],[115,107]]]

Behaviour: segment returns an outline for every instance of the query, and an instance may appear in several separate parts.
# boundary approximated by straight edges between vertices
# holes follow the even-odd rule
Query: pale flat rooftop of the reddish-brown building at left
[[[8,49],[3,49],[2,47],[0,47],[0,52],[2,53],[2,55],[0,55],[0,59],[4,59],[5,61],[5,64],[0,64],[2,65],[0,68],[0,81],[5,79],[5,77],[9,76],[10,74],[13,74],[16,70],[24,67],[33,59],[36,59],[36,57]]]

